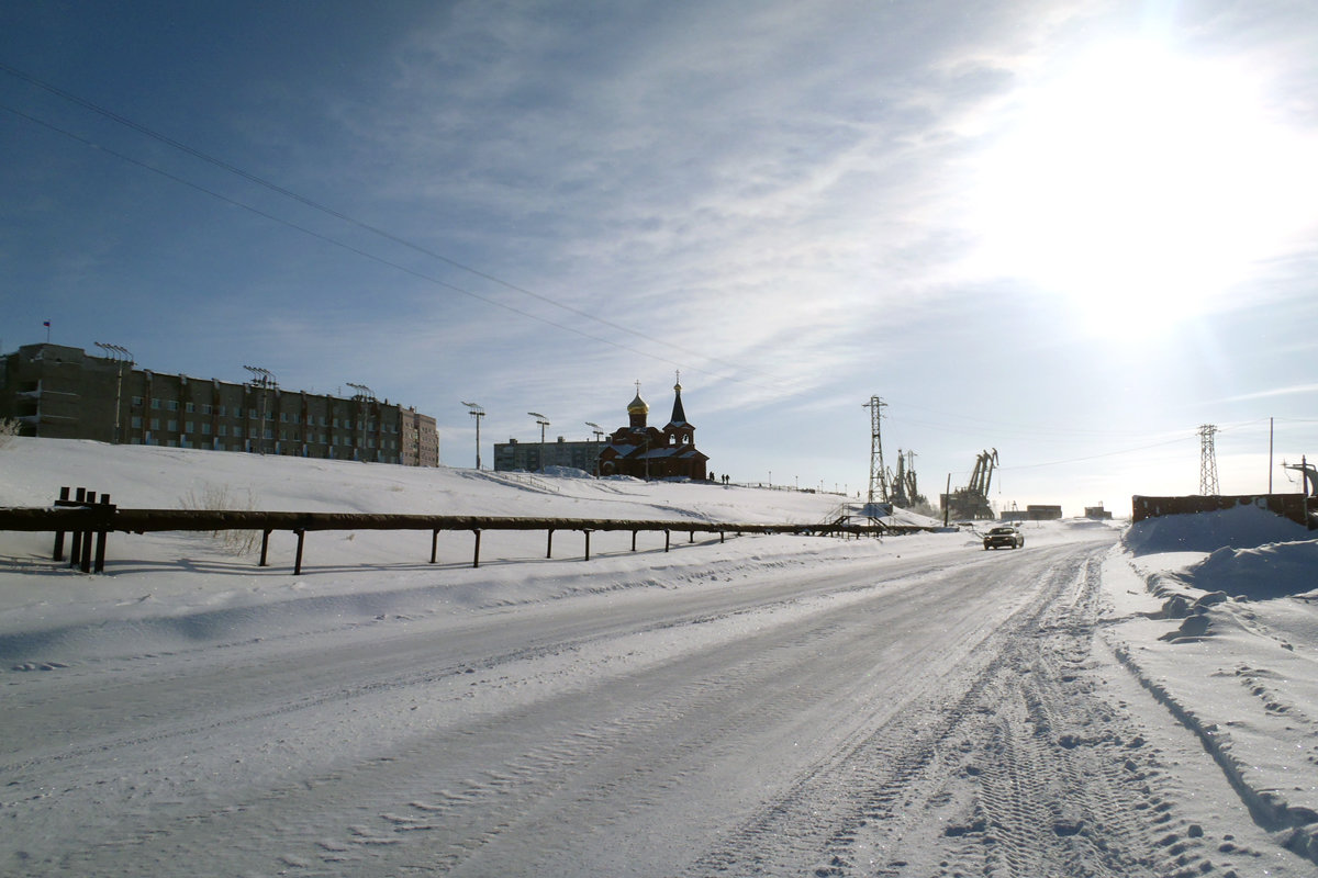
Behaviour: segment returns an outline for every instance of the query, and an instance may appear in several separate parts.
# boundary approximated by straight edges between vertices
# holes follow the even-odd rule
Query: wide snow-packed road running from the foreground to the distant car
[[[190,617],[244,637],[12,675],[5,836],[32,875],[1224,871],[1151,742],[1188,733],[1104,687],[1083,537]]]

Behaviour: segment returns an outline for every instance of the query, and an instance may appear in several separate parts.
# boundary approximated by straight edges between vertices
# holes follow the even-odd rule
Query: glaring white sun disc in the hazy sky
[[[1111,45],[1010,118],[978,171],[979,267],[1101,333],[1213,308],[1313,216],[1313,154],[1231,67]]]

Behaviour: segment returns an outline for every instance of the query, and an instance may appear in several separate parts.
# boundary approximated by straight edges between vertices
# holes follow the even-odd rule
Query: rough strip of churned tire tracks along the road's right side
[[[1195,833],[1173,825],[1156,756],[1093,696],[1089,555],[1049,570],[942,692],[804,775],[692,874],[780,874],[812,846],[816,875],[1213,869]],[[834,804],[821,813],[820,802]]]

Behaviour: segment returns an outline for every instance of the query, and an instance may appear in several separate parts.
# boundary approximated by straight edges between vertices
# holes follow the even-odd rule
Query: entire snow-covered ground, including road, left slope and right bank
[[[815,523],[842,498],[88,442],[0,505]],[[1318,542],[0,533],[0,873],[1309,875]]]

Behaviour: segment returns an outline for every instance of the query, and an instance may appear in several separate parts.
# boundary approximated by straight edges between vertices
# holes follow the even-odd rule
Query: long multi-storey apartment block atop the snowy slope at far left
[[[435,419],[365,391],[289,391],[261,370],[191,378],[51,344],[0,357],[0,417],[22,436],[439,466]]]

